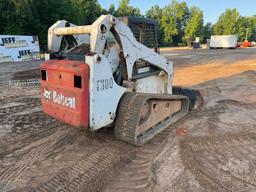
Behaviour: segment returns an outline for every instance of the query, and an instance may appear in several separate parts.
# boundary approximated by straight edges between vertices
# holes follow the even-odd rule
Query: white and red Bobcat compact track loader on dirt
[[[149,19],[102,15],[88,26],[58,21],[48,31],[48,48],[42,108],[73,126],[112,125],[118,139],[140,146],[185,116],[198,97],[191,102],[191,91],[173,89],[173,64],[159,54],[156,23]]]

